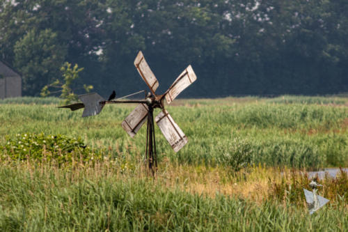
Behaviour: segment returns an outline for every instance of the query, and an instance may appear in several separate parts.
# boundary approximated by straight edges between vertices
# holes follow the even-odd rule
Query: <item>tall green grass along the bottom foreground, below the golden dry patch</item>
[[[1,231],[347,231],[344,203],[314,215],[290,203],[215,198],[152,180],[0,167]],[[74,179],[74,181],[72,181]]]

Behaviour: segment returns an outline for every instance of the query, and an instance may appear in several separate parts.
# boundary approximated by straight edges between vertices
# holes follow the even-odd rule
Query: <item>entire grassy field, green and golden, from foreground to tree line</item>
[[[56,104],[0,101],[1,231],[348,228],[347,175],[321,180],[319,194],[331,201],[309,217],[302,190],[309,180],[299,173],[348,167],[348,98],[175,100],[166,109],[189,143],[174,153],[155,128],[155,180],[143,164],[145,126],[134,139],[120,126],[134,106],[108,105],[81,118]],[[40,160],[11,150],[23,134],[42,132],[81,137],[99,156],[86,161],[76,153],[61,166],[45,159],[45,149]]]

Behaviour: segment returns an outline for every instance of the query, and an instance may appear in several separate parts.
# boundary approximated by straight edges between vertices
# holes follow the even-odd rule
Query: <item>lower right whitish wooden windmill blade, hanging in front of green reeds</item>
[[[187,144],[187,137],[175,123],[171,115],[168,114],[166,109],[156,116],[155,121],[175,152],[178,152],[185,144]]]

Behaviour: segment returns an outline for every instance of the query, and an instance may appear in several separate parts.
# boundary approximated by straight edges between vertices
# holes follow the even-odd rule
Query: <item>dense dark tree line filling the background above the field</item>
[[[347,0],[0,0],[0,59],[26,95],[65,61],[105,96],[146,89],[139,50],[159,92],[190,63],[198,81],[181,96],[347,92],[347,38]]]

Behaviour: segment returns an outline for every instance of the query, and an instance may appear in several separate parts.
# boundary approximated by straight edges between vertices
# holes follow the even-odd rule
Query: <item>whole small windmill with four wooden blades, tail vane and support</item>
[[[139,52],[139,54],[136,56],[134,65],[145,84],[147,84],[150,88],[150,92],[147,95],[145,92],[144,100],[121,100],[122,98],[118,98],[116,100],[104,100],[104,98],[97,93],[87,93],[84,95],[79,95],[79,100],[81,100],[81,102],[58,108],[69,108],[72,111],[84,108],[82,117],[86,117],[99,114],[106,104],[138,104],[127,116],[127,118],[122,121],[122,128],[129,134],[130,137],[134,137],[145,121],[147,121],[145,157],[148,160],[148,168],[152,171],[152,173],[154,173],[155,169],[157,169],[154,119],[162,134],[175,152],[179,151],[185,144],[187,144],[187,137],[185,136],[184,132],[182,132],[180,127],[175,123],[168,111],[164,109],[164,98],[168,104],[171,104],[177,95],[196,81],[197,77],[193,72],[191,65],[189,65],[179,75],[179,77],[175,79],[175,82],[173,82],[173,84],[166,92],[164,92],[164,94],[157,95],[155,91],[159,86],[159,82],[150,69],[148,63],[145,61],[142,52]],[[153,116],[153,110],[155,108],[161,109],[161,112],[156,116],[156,118]]]

